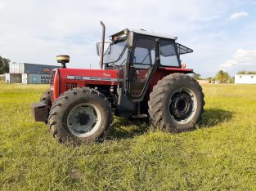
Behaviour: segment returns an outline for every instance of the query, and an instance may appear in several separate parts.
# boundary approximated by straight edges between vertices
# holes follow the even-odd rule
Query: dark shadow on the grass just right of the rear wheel
[[[223,109],[205,109],[198,127],[214,127],[222,122],[228,122],[233,117],[233,113]]]

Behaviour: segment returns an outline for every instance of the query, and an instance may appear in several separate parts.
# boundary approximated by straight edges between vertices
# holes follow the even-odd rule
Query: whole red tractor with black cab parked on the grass
[[[99,140],[113,115],[150,118],[171,132],[191,130],[204,111],[202,88],[180,60],[192,50],[169,35],[124,29],[110,36],[104,51],[101,25],[101,69],[66,69],[70,57],[57,56],[62,67],[52,71],[49,91],[32,104],[35,121],[47,122],[61,142]]]

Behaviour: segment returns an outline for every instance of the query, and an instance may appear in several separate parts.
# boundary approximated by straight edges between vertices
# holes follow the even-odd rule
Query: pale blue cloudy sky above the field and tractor
[[[253,0],[0,0],[0,56],[14,62],[99,69],[96,43],[123,29],[177,36],[193,49],[182,64],[203,78],[222,69],[256,71],[256,1]]]

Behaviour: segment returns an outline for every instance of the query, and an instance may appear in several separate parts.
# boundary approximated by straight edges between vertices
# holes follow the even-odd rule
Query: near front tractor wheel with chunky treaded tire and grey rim
[[[88,87],[65,91],[52,105],[49,126],[61,142],[90,143],[99,140],[112,122],[109,100]]]

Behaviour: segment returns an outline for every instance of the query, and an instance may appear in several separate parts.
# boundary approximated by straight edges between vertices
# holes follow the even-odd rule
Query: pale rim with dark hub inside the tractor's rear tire
[[[173,120],[179,124],[190,122],[197,109],[197,100],[189,88],[180,88],[173,93],[169,103],[169,112]]]

